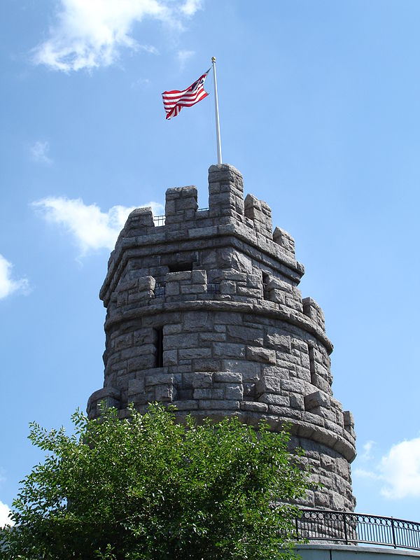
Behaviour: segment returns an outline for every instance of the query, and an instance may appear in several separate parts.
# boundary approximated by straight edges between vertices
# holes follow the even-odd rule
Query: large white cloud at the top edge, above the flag
[[[202,6],[200,0],[59,0],[49,38],[33,52],[35,64],[58,71],[109,66],[123,48],[157,52],[132,36],[134,24],[146,18],[181,30],[182,20]]]

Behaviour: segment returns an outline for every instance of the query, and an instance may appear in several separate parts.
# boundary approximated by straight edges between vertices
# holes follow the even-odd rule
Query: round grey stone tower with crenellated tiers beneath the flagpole
[[[272,230],[269,206],[244,200],[231,165],[209,169],[209,208],[193,186],[166,193],[165,225],[134,210],[109,259],[102,400],[171,402],[179,416],[261,419],[292,426],[321,490],[305,505],[353,510],[353,416],[332,396],[332,344],[323,311],[297,288],[304,268],[293,238]]]

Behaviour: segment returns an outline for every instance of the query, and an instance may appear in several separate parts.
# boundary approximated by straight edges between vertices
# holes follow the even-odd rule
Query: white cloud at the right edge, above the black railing
[[[420,498],[420,437],[393,445],[379,463],[386,498]]]

